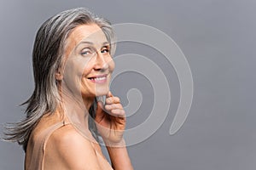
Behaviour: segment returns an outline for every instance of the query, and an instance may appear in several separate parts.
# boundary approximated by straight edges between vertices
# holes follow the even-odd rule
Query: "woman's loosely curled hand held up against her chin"
[[[120,99],[111,92],[106,95],[106,105],[97,102],[96,127],[105,143],[119,143],[125,131],[125,111],[120,104]]]

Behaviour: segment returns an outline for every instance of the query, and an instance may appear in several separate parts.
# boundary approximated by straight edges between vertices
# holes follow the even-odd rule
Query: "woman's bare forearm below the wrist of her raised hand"
[[[124,140],[121,144],[107,145],[107,149],[114,170],[133,170]]]

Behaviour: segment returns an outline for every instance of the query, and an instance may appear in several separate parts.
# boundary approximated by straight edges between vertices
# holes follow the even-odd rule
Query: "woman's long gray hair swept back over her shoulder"
[[[77,26],[96,24],[106,35],[111,44],[111,52],[115,49],[114,34],[111,24],[87,8],[73,8],[56,14],[46,20],[39,28],[32,52],[34,76],[34,91],[32,96],[22,105],[26,107],[26,118],[7,126],[6,140],[26,145],[33,128],[38,124],[45,113],[54,113],[61,104],[61,95],[58,91],[59,83],[55,80],[55,72],[63,61],[64,46],[68,35]],[[95,111],[90,108],[90,116],[95,117]],[[93,120],[89,119],[90,131],[96,130]]]

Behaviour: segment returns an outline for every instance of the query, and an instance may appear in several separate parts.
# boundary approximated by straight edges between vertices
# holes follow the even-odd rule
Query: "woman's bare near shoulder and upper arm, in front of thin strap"
[[[72,125],[58,128],[49,137],[45,148],[45,169],[48,166],[49,169],[100,169],[90,141]]]

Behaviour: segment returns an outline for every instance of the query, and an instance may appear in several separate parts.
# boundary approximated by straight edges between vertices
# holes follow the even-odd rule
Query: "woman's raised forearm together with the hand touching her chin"
[[[125,111],[120,104],[118,97],[114,97],[110,92],[107,95],[105,112],[102,110],[102,103],[98,102],[96,110],[96,126],[101,133],[102,139],[107,145],[112,166],[115,170],[133,169],[131,160],[125,146],[123,133],[125,131]]]

